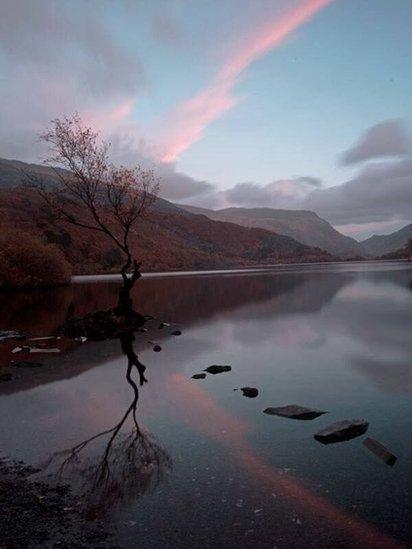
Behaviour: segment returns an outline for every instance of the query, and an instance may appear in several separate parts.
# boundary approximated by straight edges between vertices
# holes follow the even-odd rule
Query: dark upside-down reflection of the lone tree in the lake
[[[134,334],[122,334],[120,342],[127,357],[126,380],[133,389],[130,406],[116,425],[54,454],[46,464],[46,467],[57,466],[59,478],[70,477],[80,484],[89,519],[154,490],[173,465],[166,450],[140,428],[137,420],[139,386],[133,379],[134,370],[140,386],[147,383],[147,379],[146,367],[134,352]],[[123,428],[128,422],[132,428],[125,433]],[[86,449],[98,439],[105,439],[104,451],[91,457]]]

